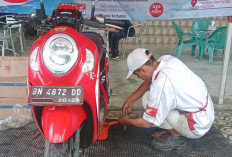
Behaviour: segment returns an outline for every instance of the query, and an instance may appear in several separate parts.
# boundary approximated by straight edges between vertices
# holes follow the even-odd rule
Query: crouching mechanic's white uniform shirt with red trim
[[[165,55],[158,61],[143,118],[160,126],[176,109],[184,112],[192,133],[203,136],[214,121],[213,103],[204,82],[176,57]]]

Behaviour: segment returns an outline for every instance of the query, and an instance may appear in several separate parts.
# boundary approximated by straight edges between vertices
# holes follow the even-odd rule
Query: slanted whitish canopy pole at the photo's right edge
[[[223,104],[223,100],[224,100],[226,79],[227,79],[227,72],[228,72],[228,65],[229,65],[230,51],[231,51],[230,50],[231,49],[231,38],[232,38],[232,23],[228,22],[225,51],[224,51],[224,63],[223,63],[222,77],[221,77],[221,84],[220,84],[220,91],[219,91],[219,101],[218,101],[219,105]]]

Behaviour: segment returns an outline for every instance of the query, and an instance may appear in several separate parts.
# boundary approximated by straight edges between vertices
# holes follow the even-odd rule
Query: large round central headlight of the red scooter
[[[63,75],[76,63],[78,49],[72,37],[60,33],[47,39],[42,56],[45,66],[51,73]]]

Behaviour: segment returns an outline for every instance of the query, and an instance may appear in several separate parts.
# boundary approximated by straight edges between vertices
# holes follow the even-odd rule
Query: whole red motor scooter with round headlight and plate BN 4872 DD
[[[78,157],[80,148],[97,140],[106,117],[108,52],[102,36],[81,32],[83,24],[106,27],[94,8],[90,20],[70,6],[57,7],[49,18],[41,2],[31,15],[35,29],[51,29],[34,42],[28,66],[28,103],[45,137],[46,157]]]

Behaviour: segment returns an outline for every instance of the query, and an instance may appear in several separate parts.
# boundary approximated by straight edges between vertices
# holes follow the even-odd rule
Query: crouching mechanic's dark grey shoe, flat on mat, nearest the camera
[[[187,141],[183,136],[166,136],[151,141],[151,147],[160,151],[167,151],[173,149],[186,149],[188,147]]]

